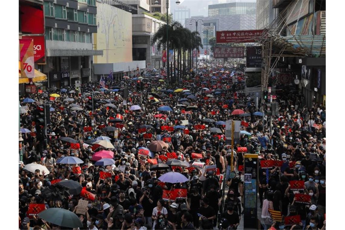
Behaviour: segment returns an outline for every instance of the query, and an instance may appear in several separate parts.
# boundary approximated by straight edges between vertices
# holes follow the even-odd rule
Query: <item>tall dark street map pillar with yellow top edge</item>
[[[244,154],[244,229],[257,229],[258,155]]]

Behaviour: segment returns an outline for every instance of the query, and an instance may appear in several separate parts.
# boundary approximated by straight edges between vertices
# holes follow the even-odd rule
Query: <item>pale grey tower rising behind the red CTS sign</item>
[[[273,0],[257,0],[256,29],[264,29],[278,16],[278,10],[273,8]]]

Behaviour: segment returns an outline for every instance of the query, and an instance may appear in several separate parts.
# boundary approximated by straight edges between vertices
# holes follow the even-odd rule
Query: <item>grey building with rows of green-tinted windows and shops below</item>
[[[97,33],[96,0],[44,0],[48,87],[61,87],[91,80],[93,56],[103,50],[93,46]]]

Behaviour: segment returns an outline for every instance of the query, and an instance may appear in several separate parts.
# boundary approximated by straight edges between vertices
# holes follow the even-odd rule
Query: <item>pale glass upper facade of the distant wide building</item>
[[[256,15],[256,3],[234,2],[208,6],[208,17],[228,16],[236,14]]]

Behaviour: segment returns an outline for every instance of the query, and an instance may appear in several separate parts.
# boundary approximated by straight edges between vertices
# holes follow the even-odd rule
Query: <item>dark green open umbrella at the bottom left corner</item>
[[[83,227],[83,224],[75,213],[63,208],[49,208],[40,212],[38,214],[38,217],[49,223],[53,223],[61,227]]]

